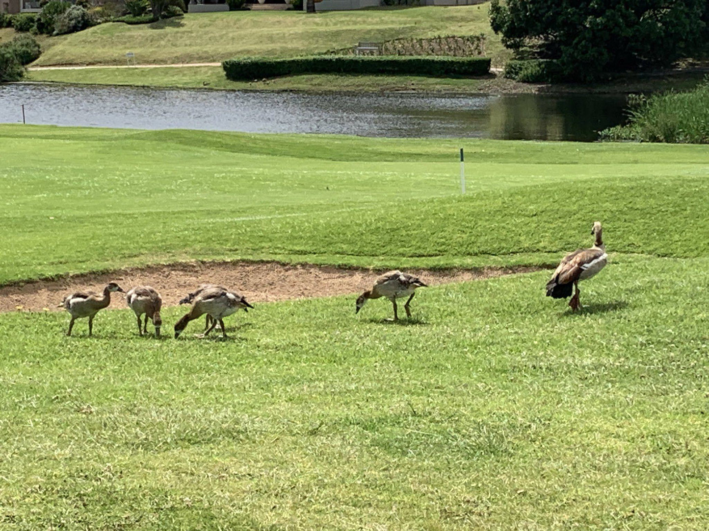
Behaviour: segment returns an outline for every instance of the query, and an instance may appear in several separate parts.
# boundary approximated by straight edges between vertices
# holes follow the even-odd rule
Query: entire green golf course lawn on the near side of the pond
[[[705,148],[18,126],[0,143],[0,283],[187,258],[551,265],[595,219],[610,253],[579,314],[543,296],[548,271],[424,288],[401,325],[381,300],[259,304],[230,341],[139,338],[129,310],[93,338],[2,314],[1,525],[708,527]]]

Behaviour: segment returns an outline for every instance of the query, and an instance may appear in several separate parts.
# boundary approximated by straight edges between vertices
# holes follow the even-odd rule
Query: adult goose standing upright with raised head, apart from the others
[[[576,293],[571,297],[569,306],[574,312],[581,307],[579,280],[593,277],[608,262],[608,254],[605,253],[605,245],[601,236],[602,232],[601,222],[595,222],[593,229],[591,229],[591,234],[596,236],[593,247],[578,249],[564,256],[562,263],[559,263],[559,267],[554,271],[552,280],[547,282],[547,297],[554,297],[554,299],[571,297],[571,292],[576,287]]]

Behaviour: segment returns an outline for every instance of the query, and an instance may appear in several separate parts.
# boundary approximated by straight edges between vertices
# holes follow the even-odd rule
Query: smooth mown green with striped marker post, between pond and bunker
[[[700,147],[11,125],[0,138],[13,234],[0,282],[188,258],[550,264],[593,219],[613,220],[621,253],[709,247]]]

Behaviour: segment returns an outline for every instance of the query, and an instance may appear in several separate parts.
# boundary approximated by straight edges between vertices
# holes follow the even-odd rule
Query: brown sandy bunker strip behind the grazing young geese
[[[407,269],[430,285],[483,280],[516,273],[530,273],[537,266],[474,269]],[[250,302],[271,302],[346,295],[366,290],[382,270],[333,265],[279,262],[188,262],[125,268],[108,273],[83,273],[55,280],[16,282],[0,287],[0,313],[59,311],[65,295],[79,290],[101,292],[108,282],[128,291],[137,285],[154,287],[164,306],[174,306],[186,293],[203,283],[219,284],[240,292]],[[114,297],[111,307],[122,307]],[[120,302],[118,302],[120,301]]]

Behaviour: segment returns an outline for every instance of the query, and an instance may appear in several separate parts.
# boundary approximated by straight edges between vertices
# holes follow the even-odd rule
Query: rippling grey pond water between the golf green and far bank
[[[593,141],[623,121],[623,94],[432,96],[0,85],[0,122]]]

